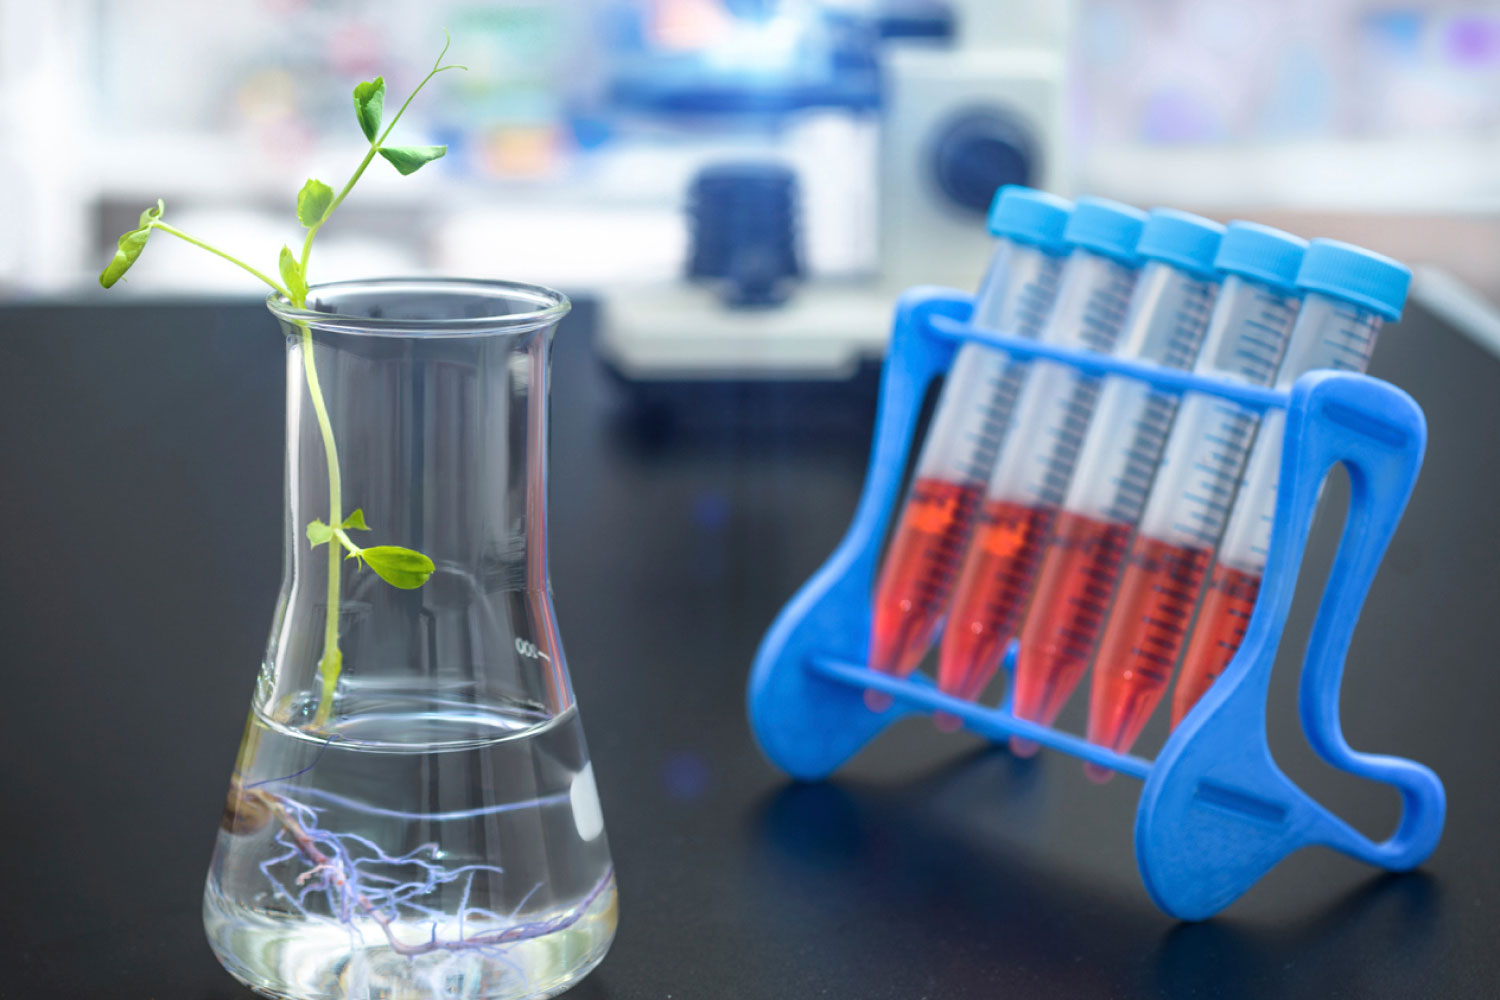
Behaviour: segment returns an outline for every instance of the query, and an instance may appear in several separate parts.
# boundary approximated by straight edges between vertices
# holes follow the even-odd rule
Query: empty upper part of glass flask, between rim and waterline
[[[560,715],[573,694],[548,579],[550,325],[303,322],[285,328],[285,571],[261,712],[366,741],[392,712]]]

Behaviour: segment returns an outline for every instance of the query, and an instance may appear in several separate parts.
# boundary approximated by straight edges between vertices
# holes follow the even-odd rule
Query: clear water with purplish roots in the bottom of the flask
[[[615,915],[576,709],[372,712],[330,738],[252,715],[204,895],[246,984],[543,997],[603,958]]]

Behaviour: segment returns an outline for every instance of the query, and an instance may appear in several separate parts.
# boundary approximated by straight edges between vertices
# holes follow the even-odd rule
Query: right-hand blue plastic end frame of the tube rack
[[[1419,864],[1437,844],[1444,813],[1437,777],[1410,760],[1354,753],[1338,721],[1348,640],[1425,444],[1420,408],[1394,385],[1311,372],[1293,387],[1270,553],[1250,628],[1224,675],[1167,739],[1142,792],[1136,858],[1148,892],[1167,913],[1212,916],[1311,844],[1390,870]],[[1300,711],[1318,754],[1401,792],[1401,823],[1378,844],[1293,784],[1266,742],[1270,669],[1318,493],[1338,463],[1348,469],[1348,516],[1308,643]]]

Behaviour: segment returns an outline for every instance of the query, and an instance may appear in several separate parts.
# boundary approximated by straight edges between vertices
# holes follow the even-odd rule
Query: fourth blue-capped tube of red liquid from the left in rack
[[[1305,249],[1269,226],[1228,225],[1214,259],[1224,285],[1196,373],[1270,384],[1300,304],[1294,282]],[[1100,721],[1092,732],[1107,732],[1112,714],[1144,711],[1143,721],[1150,709],[1134,705],[1130,691],[1170,678],[1257,423],[1257,411],[1218,396],[1182,397],[1095,657],[1090,718]]]

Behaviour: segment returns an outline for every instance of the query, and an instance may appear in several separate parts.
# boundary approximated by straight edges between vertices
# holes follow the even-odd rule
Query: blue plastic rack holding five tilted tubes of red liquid
[[[766,757],[796,778],[819,780],[898,718],[945,712],[992,741],[1022,736],[1142,778],[1136,813],[1142,880],[1158,907],[1188,921],[1218,913],[1282,858],[1312,844],[1390,871],[1419,865],[1443,832],[1442,781],[1420,763],[1354,751],[1338,714],[1354,622],[1422,463],[1426,421],[1416,402],[1368,375],[1310,372],[1290,391],[1278,391],[1059,348],[976,328],[969,324],[972,306],[970,297],[942,288],[910,289],[897,306],[854,522],[832,556],[777,616],[750,673],[750,723]],[[866,666],[880,544],[922,396],[963,342],[1018,360],[1058,361],[1088,375],[1122,375],[1162,391],[1209,393],[1262,412],[1287,411],[1270,553],[1248,631],[1222,676],[1154,760],[1017,718],[1008,696],[992,708],[948,696],[922,675],[896,678]],[[1299,706],[1306,739],[1324,760],[1401,793],[1401,822],[1380,843],[1287,778],[1266,739],[1270,669],[1320,486],[1340,462],[1348,469],[1348,513],[1302,663]],[[1012,645],[1006,673],[1014,658]],[[866,708],[870,690],[888,694],[892,706],[885,712]]]

